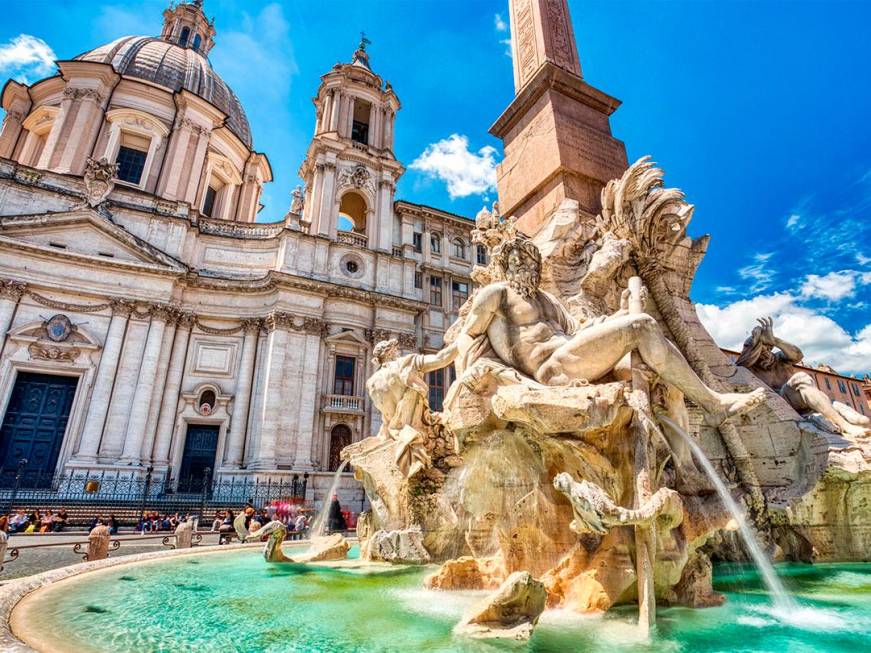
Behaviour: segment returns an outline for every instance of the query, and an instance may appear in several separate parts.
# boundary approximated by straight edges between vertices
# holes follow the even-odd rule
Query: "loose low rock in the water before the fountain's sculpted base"
[[[468,637],[529,639],[546,600],[541,582],[527,571],[514,572],[496,592],[472,608],[454,632]]]

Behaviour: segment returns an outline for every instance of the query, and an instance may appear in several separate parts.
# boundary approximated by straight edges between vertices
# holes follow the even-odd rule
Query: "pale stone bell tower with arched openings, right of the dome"
[[[314,137],[299,170],[309,233],[389,252],[393,195],[405,168],[393,154],[400,103],[369,63],[365,34],[350,63],[321,77]]]

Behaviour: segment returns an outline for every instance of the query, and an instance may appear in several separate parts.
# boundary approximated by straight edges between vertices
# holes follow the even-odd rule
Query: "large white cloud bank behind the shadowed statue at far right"
[[[774,332],[804,352],[805,364],[827,363],[848,373],[871,370],[871,324],[854,335],[790,293],[757,295],[726,306],[696,304],[702,324],[721,347],[740,351],[756,319],[774,318]]]

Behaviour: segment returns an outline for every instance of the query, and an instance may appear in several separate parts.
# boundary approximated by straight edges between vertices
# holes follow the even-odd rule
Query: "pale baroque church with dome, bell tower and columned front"
[[[439,349],[486,262],[470,220],[395,199],[401,105],[365,43],[321,78],[305,190],[256,221],[269,160],[214,36],[201,2],[170,6],[159,37],[3,87],[2,474],[308,474],[319,502],[378,429],[373,345]]]

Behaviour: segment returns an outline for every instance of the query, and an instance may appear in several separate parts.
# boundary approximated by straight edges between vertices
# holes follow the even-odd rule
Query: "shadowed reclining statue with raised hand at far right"
[[[796,345],[778,338],[774,333],[774,320],[757,320],[736,364],[746,367],[763,383],[789,402],[799,414],[818,413],[842,435],[863,437],[871,435],[871,419],[839,401],[829,399],[814,383],[807,372],[795,368],[804,358]],[[774,351],[777,348],[778,351]]]

